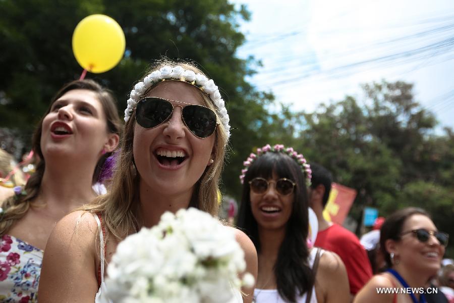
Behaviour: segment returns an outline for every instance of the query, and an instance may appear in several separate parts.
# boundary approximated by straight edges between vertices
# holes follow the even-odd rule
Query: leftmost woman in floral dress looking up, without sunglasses
[[[63,86],[34,133],[40,159],[2,203],[0,301],[36,302],[43,249],[55,223],[96,197],[92,184],[119,142],[115,98],[92,80]]]

